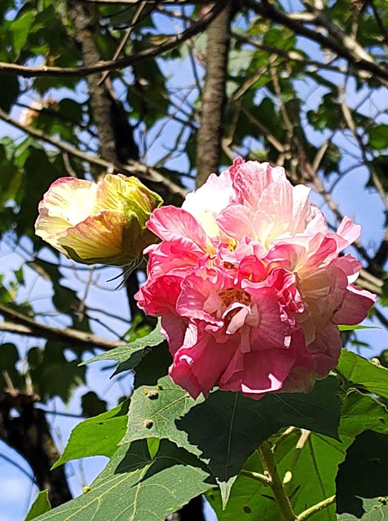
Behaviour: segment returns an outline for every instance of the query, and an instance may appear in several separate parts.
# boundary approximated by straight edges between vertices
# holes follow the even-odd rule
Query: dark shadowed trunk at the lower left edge
[[[51,506],[55,507],[70,501],[72,496],[64,467],[50,470],[59,453],[44,411],[34,405],[36,398],[15,390],[5,393],[0,400],[0,439],[28,462],[36,485],[40,490],[48,490]],[[12,408],[16,408],[20,416],[11,417]]]

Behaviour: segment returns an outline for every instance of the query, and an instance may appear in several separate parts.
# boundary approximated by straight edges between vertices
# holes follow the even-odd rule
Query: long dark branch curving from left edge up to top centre
[[[218,13],[221,13],[225,5],[225,0],[217,2],[209,13],[204,15],[203,18],[198,20],[198,22],[192,24],[187,31],[171,36],[161,45],[148,47],[143,51],[139,51],[136,54],[126,56],[119,60],[100,61],[99,63],[85,65],[84,67],[47,67],[45,65],[41,67],[27,67],[24,65],[0,62],[0,75],[22,76],[23,78],[37,78],[40,76],[84,78],[85,76],[96,72],[130,67],[140,63],[141,61],[156,58],[204,31],[217,17]]]

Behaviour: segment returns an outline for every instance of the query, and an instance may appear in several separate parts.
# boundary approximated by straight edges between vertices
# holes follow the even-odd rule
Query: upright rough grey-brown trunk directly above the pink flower
[[[222,149],[225,83],[229,51],[231,2],[208,28],[206,73],[202,98],[201,127],[197,142],[197,187],[217,172]]]

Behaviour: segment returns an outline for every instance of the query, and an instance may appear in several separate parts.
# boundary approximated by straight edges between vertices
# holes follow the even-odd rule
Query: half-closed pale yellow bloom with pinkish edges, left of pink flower
[[[127,266],[155,242],[146,222],[162,203],[135,177],[62,177],[39,203],[35,233],[74,261]]]

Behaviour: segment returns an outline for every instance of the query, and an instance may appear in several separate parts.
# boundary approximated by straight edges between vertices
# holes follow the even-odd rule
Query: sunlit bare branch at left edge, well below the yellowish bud
[[[120,345],[125,345],[125,342],[107,340],[97,337],[95,334],[85,333],[84,331],[78,331],[76,329],[59,329],[39,324],[32,318],[14,311],[14,309],[10,309],[3,304],[0,304],[0,315],[3,315],[6,320],[11,320],[10,322],[0,322],[0,331],[23,334],[27,337],[45,338],[56,342],[66,342],[68,344],[76,343],[89,349],[114,349]]]

